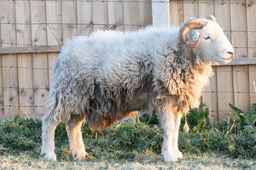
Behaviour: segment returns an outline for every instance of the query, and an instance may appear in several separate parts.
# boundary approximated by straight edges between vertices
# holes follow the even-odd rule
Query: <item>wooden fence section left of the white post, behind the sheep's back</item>
[[[60,45],[72,36],[152,24],[151,3],[122,1],[0,1],[0,18],[0,115],[7,119],[46,113]]]

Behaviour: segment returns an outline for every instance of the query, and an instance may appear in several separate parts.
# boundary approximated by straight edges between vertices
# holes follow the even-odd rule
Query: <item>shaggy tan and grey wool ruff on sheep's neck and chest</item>
[[[198,106],[203,86],[208,84],[213,71],[210,62],[196,59],[190,51],[174,52],[174,54],[176,55],[171,57],[175,59],[166,58],[168,69],[162,74],[161,80],[169,94],[177,98],[178,110],[184,113],[189,107]]]

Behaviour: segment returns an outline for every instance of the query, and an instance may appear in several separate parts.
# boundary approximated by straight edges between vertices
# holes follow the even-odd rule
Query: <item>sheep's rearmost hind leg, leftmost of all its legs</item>
[[[42,149],[41,155],[46,159],[56,161],[56,154],[54,153],[54,133],[57,125],[60,121],[49,120],[48,117],[44,116],[42,121]]]

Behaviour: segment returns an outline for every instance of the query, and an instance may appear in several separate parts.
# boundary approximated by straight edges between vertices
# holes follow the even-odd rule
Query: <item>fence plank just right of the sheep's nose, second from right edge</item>
[[[232,1],[231,2],[235,2]],[[246,2],[242,0],[240,2]],[[247,30],[247,16],[246,5],[244,4],[230,4],[230,16],[231,16],[231,30]],[[247,37],[243,32],[233,32],[232,44],[235,47],[247,47]],[[248,57],[246,48],[236,48],[235,58]],[[244,82],[249,81],[248,66],[233,66],[233,86],[234,86],[234,98],[235,106],[242,109],[242,111],[250,110],[250,95],[246,92],[249,91],[249,84]],[[245,93],[240,93],[245,92]]]

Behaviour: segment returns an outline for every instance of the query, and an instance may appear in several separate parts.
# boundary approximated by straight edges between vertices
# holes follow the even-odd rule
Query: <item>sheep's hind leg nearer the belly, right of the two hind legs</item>
[[[85,155],[85,145],[82,141],[81,126],[85,121],[85,117],[82,115],[71,115],[70,119],[66,123],[66,130],[68,132],[70,151],[75,160],[84,160]]]

